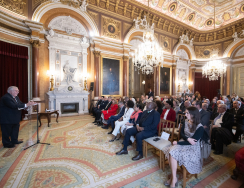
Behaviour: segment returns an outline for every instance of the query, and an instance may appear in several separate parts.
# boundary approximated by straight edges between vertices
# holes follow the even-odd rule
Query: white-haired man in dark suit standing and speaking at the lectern
[[[2,129],[2,143],[5,148],[13,148],[15,144],[21,144],[18,141],[19,122],[21,120],[21,109],[34,105],[34,102],[24,104],[20,101],[19,89],[16,86],[10,86],[0,100],[0,124]],[[9,139],[11,137],[11,140]]]

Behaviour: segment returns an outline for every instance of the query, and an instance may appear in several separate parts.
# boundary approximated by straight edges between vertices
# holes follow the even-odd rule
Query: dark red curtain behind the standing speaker
[[[19,98],[28,102],[28,48],[0,41],[0,97],[9,86],[19,88]]]

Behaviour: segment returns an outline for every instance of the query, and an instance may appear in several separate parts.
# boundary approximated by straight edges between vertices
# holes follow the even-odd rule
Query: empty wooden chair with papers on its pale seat
[[[172,145],[174,138],[175,122],[160,120],[159,124],[159,134],[158,137],[151,137],[143,140],[143,153],[147,157],[148,145],[152,146],[156,150],[159,150],[159,167],[164,171],[165,169],[165,155],[162,151],[163,148]],[[155,138],[159,138],[162,132],[167,132],[170,134],[169,140],[160,139],[158,141],[153,141]],[[163,165],[162,165],[163,164]]]

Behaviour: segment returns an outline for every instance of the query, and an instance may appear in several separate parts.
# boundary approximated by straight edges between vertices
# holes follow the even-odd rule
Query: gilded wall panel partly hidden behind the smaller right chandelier
[[[219,56],[222,54],[221,53],[221,44],[216,44],[216,48],[219,49]],[[210,58],[210,53],[213,50],[214,45],[211,46],[195,46],[195,53],[196,53],[196,58],[199,59],[208,59]]]

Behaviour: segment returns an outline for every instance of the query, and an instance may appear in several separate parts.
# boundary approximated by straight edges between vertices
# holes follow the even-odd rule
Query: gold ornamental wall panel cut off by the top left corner
[[[0,6],[17,14],[25,14],[26,0],[0,0]]]

